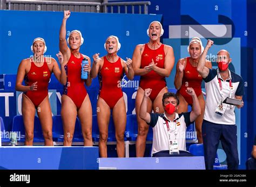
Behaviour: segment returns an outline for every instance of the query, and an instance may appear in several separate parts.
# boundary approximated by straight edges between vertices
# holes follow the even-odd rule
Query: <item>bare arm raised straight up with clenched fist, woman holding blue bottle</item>
[[[70,13],[71,12],[69,10],[64,11],[62,25],[59,30],[59,51],[62,52],[63,56],[68,56],[71,53],[66,42],[66,20],[70,17]]]

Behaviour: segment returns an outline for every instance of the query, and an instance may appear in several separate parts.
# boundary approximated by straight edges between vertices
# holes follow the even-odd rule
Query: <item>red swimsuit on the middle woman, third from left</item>
[[[120,57],[116,62],[110,62],[104,56],[102,69],[99,71],[99,97],[103,98],[110,109],[114,108],[118,100],[123,97],[120,87],[123,76],[123,67]]]

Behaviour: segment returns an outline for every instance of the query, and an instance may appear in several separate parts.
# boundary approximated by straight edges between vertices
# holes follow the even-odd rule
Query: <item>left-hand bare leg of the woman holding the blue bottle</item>
[[[69,96],[62,95],[62,124],[64,130],[64,146],[72,146],[75,131],[77,107]]]

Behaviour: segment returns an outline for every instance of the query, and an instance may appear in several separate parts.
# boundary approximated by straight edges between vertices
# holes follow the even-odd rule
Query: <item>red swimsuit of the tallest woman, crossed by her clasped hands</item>
[[[145,48],[142,54],[142,63],[140,64],[140,68],[144,68],[145,66],[149,66],[149,64],[154,60],[154,63],[157,63],[157,67],[164,68],[164,44],[162,44],[158,49],[153,50],[150,49],[147,44],[145,44]],[[145,90],[146,88],[151,88],[152,92],[150,94],[150,99],[154,102],[158,93],[166,87],[165,77],[157,74],[153,70],[151,70],[146,75],[140,76],[139,87]]]

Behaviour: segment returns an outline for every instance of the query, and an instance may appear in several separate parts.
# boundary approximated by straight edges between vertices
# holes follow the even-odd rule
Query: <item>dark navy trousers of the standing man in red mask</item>
[[[214,124],[203,121],[202,134],[204,142],[205,168],[213,169],[219,141],[227,155],[227,169],[238,169],[237,126]]]

